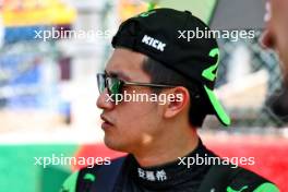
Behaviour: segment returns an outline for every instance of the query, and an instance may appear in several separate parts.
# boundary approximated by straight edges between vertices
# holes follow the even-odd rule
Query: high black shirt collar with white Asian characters
[[[149,190],[165,190],[181,185],[190,185],[202,181],[211,165],[190,165],[188,159],[192,160],[205,159],[215,155],[208,151],[200,140],[197,147],[184,157],[180,157],[161,166],[141,167],[133,155],[129,155],[130,175],[140,185]],[[185,164],[184,164],[185,163]]]

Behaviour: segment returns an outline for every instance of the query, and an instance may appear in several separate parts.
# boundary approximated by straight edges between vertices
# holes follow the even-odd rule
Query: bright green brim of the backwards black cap
[[[208,99],[213,106],[215,115],[217,116],[219,121],[226,127],[230,125],[230,123],[231,123],[230,117],[226,113],[225,109],[223,108],[220,101],[217,99],[214,92],[205,85],[204,85],[204,89],[208,96]]]

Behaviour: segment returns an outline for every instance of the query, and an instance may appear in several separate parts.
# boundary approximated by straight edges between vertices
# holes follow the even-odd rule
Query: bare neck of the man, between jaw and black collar
[[[133,153],[142,167],[154,167],[175,161],[194,151],[200,142],[195,129],[187,129],[182,133],[168,135],[170,137],[163,136]]]

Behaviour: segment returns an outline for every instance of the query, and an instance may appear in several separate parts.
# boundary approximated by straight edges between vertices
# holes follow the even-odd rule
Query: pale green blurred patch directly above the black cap
[[[208,24],[214,9],[216,7],[217,0],[160,0],[160,8],[172,8],[180,11],[191,11],[193,15],[200,17],[206,24]]]

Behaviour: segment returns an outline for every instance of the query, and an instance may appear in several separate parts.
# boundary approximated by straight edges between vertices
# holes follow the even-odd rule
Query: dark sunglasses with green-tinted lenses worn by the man
[[[108,94],[112,96],[122,94],[122,88],[124,86],[147,86],[147,87],[156,87],[156,88],[176,87],[176,85],[125,82],[125,81],[119,80],[118,77],[108,76],[107,74],[104,74],[104,73],[97,74],[97,85],[98,85],[98,89],[100,94],[104,93],[105,88],[107,88]]]

